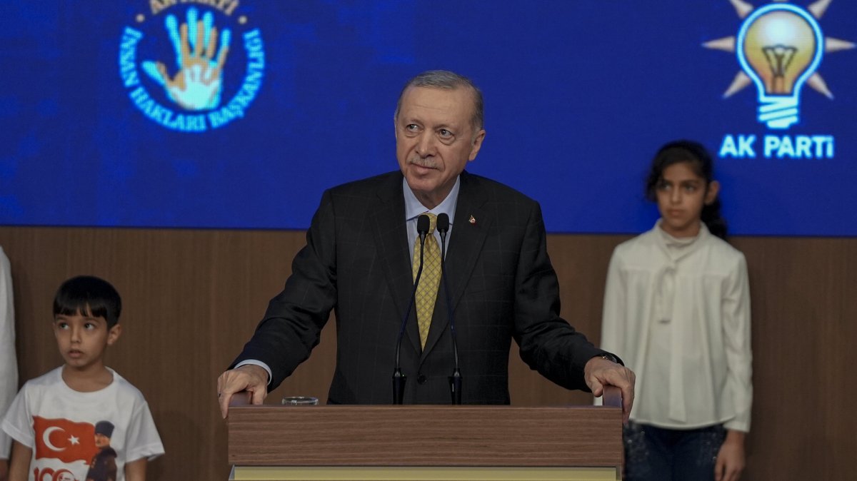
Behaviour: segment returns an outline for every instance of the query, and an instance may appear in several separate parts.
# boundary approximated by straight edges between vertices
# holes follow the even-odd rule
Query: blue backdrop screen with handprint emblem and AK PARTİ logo
[[[637,233],[668,140],[716,157],[733,234],[857,235],[857,3],[123,0],[3,7],[0,223],[306,229],[397,168],[429,68],[485,97],[468,169],[549,231]]]

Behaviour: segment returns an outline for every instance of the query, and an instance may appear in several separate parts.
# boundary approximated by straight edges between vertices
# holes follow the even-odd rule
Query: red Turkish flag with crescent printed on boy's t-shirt
[[[89,463],[98,453],[95,447],[95,426],[75,423],[69,419],[45,419],[33,416],[36,438],[36,459],[51,458],[64,463]]]

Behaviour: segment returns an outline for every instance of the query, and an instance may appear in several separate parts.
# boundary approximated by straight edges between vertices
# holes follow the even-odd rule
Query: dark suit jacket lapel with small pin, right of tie
[[[476,267],[476,261],[493,221],[482,210],[482,206],[487,200],[488,196],[480,187],[478,178],[470,176],[467,172],[462,172],[461,187],[458,190],[458,202],[455,208],[455,223],[452,226],[445,259],[446,281],[449,282],[449,297],[453,313],[455,306],[458,306],[458,300],[461,300],[461,296],[464,294],[464,288],[467,287],[470,274]],[[476,222],[470,223],[471,217]],[[437,301],[434,303],[431,329],[428,330],[426,347],[423,349],[420,362],[426,358],[440,336],[446,332],[448,326],[449,311],[446,307],[444,281],[441,280]]]

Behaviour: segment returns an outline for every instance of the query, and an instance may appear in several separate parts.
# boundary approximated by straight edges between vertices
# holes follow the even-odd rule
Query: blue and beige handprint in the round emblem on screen
[[[167,96],[186,110],[210,110],[220,104],[223,90],[223,66],[229,52],[231,32],[219,34],[214,27],[214,15],[206,12],[199,20],[195,8],[188,9],[188,21],[178,26],[176,15],[167,15],[166,31],[176,51],[178,72],[170,77],[163,62],[142,62],[143,70],[164,87]]]

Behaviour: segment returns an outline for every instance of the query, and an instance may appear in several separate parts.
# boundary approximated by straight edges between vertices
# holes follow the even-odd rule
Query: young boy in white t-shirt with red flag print
[[[98,277],[60,286],[53,330],[65,364],[27,381],[3,419],[14,439],[9,481],[142,481],[147,460],[164,454],[141,392],[104,365],[122,333],[121,309]]]

